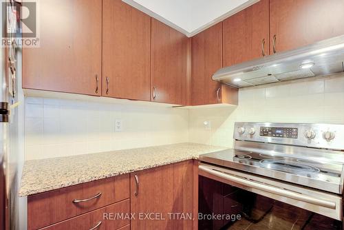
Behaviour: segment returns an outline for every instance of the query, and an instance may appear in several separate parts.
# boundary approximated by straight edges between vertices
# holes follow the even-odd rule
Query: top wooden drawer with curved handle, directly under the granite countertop
[[[40,229],[127,198],[129,174],[29,196],[28,229]]]

